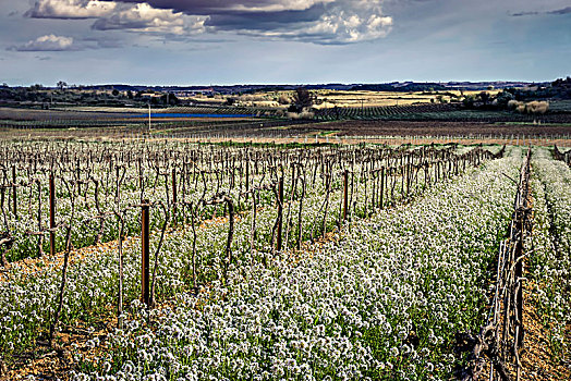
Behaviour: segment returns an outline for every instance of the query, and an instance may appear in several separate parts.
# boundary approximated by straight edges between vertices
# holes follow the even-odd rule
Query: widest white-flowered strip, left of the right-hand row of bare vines
[[[205,294],[173,293],[175,307],[147,312],[135,303],[125,329],[108,337],[98,370],[75,376],[448,378],[453,334],[483,321],[485,280],[515,192],[502,173],[517,176],[520,164],[515,149],[416,202],[356,222],[299,262],[243,262]],[[179,242],[165,260],[185,255]]]

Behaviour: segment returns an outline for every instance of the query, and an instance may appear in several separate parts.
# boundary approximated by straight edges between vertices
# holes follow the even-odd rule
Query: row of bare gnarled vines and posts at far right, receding
[[[500,244],[496,287],[485,325],[476,336],[471,333],[457,335],[459,348],[470,352],[467,366],[460,372],[463,381],[478,380],[486,362],[489,362],[489,380],[510,381],[510,365],[515,369],[515,380],[520,380],[520,349],[524,344],[523,259],[526,256],[523,247],[531,234],[532,214],[531,156],[530,147],[517,183],[509,237]]]

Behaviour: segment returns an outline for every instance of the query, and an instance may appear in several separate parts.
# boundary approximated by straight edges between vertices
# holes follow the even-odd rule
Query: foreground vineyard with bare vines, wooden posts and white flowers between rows
[[[571,374],[571,151],[0,146],[0,378]]]

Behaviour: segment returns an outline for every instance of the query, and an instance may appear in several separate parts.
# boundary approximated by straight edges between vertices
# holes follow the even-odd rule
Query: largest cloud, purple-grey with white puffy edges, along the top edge
[[[95,19],[96,30],[166,36],[234,33],[314,44],[385,37],[392,19],[384,0],[37,0],[28,17]]]

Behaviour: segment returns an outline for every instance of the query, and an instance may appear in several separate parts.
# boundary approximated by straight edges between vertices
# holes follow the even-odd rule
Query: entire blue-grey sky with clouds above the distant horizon
[[[571,0],[0,0],[11,86],[568,75]]]

